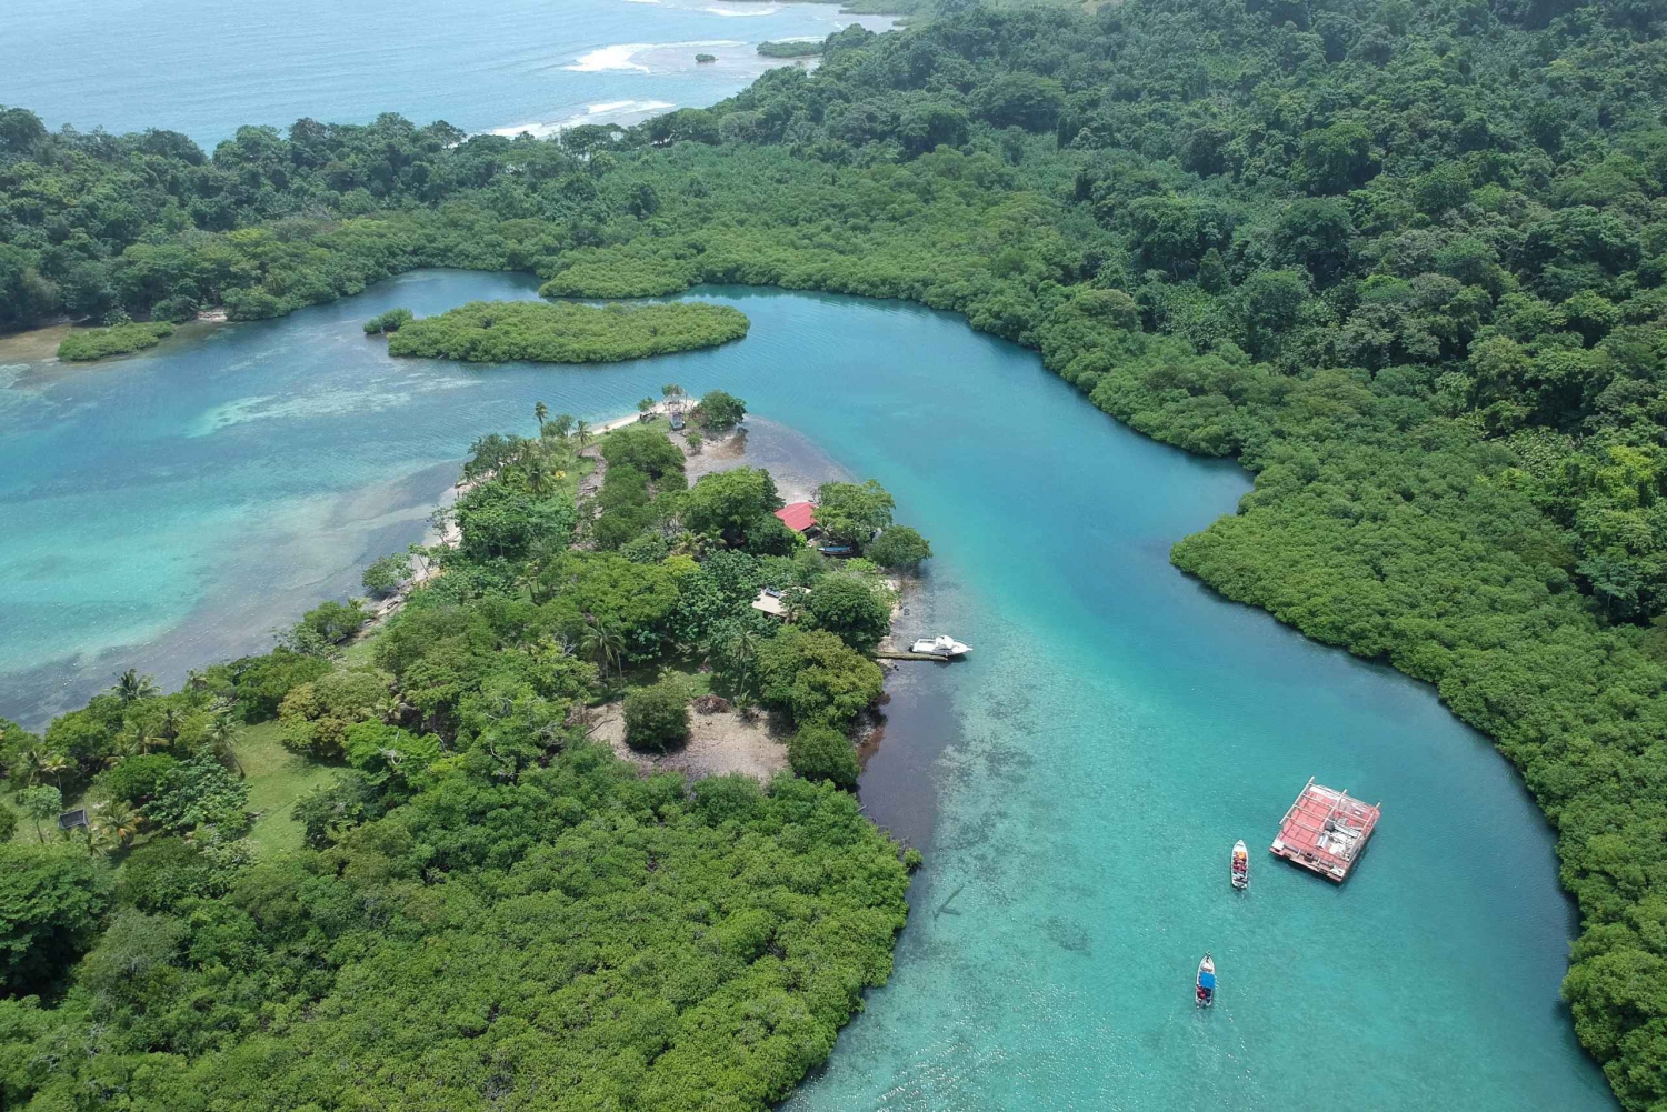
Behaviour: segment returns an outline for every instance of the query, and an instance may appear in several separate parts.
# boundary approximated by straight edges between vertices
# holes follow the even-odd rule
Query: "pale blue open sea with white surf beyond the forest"
[[[242,123],[368,123],[398,112],[467,132],[635,123],[740,92],[757,43],[887,17],[778,0],[60,0],[0,12],[0,105],[57,128],[160,127],[212,145]],[[695,53],[717,62],[695,63]]]

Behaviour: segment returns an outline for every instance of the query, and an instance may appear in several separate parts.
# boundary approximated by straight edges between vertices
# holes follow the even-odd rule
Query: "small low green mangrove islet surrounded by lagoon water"
[[[377,322],[385,330],[387,317],[365,330],[372,332]],[[718,347],[747,335],[747,325],[738,308],[703,302],[607,307],[470,302],[438,317],[413,320],[405,313],[388,330],[388,353],[472,363],[612,363]]]

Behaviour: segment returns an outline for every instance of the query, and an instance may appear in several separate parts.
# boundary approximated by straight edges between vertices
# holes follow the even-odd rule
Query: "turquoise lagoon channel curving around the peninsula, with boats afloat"
[[[752,317],[745,340],[602,368],[395,363],[358,328],[532,290],[408,275],[12,368],[0,714],[260,647],[420,535],[470,437],[530,432],[535,400],[602,418],[665,382],[725,387],[897,493],[939,553],[905,622],[977,647],[894,684],[864,795],[927,867],[894,980],[788,1109],[1614,1107],[1557,1000],[1574,917],[1507,765],[1429,689],[1169,565],[1232,512],[1239,468],[897,303],[703,290]],[[1384,800],[1344,889],[1264,855],[1309,775]],[[1222,992],[1199,1014],[1205,949]]]

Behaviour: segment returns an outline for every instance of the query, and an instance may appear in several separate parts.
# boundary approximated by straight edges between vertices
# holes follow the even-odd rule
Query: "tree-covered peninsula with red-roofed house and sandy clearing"
[[[430,1099],[762,1110],[887,980],[920,854],[862,815],[852,730],[894,604],[874,559],[930,548],[872,480],[818,490],[844,562],[768,472],[690,483],[745,417],[722,390],[533,417],[475,442],[435,543],[367,569],[378,610],[325,602],[175,694],[128,670],[38,737],[0,722],[12,1097],[75,1105],[97,1059],[158,1105],[333,1107],[397,1069]],[[52,837],[67,799],[88,827]],[[523,1014],[568,1019],[525,1054]],[[50,1054],[93,1025],[97,1055]]]

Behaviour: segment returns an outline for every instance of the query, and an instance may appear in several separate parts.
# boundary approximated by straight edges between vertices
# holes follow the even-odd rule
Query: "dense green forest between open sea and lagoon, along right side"
[[[1559,832],[1564,994],[1667,1102],[1667,45],[1647,0],[954,5],[557,140],[0,113],[0,327],[550,295],[904,297],[1255,490],[1175,562],[1437,685]]]

